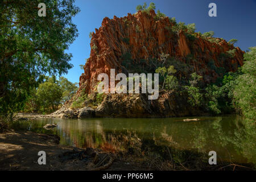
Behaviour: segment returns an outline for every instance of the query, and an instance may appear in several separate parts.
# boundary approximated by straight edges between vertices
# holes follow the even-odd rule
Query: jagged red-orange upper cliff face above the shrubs
[[[209,62],[213,61],[217,68],[224,68],[226,72],[236,71],[238,65],[242,65],[243,51],[234,48],[225,40],[219,39],[218,43],[209,42],[199,35],[193,42],[180,31],[174,34],[168,30],[172,27],[168,17],[155,20],[154,10],[150,15],[139,11],[135,15],[128,14],[123,18],[104,18],[102,26],[92,34],[90,43],[90,57],[84,66],[84,72],[80,76],[80,92],[91,93],[97,84],[97,76],[100,73],[110,75],[110,69],[114,68],[115,74],[123,72],[122,56],[129,52],[132,64],[139,64],[141,60],[159,59],[160,53],[168,53],[183,63],[188,56],[193,57],[189,65],[191,72],[197,72],[209,83],[218,77],[214,69],[209,68]],[[126,40],[126,41],[125,41]],[[128,42],[129,41],[129,42]],[[236,56],[228,61],[221,60],[219,56],[230,49],[236,49]]]

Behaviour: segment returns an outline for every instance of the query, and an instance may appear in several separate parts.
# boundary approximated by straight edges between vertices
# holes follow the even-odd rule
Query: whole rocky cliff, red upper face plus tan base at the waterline
[[[187,96],[179,93],[162,91],[158,100],[148,100],[147,94],[104,94],[104,100],[93,109],[85,102],[82,109],[71,109],[76,98],[89,94],[95,96],[97,76],[110,69],[117,73],[129,73],[124,66],[124,55],[129,55],[130,65],[151,67],[151,61],[159,61],[160,54],[169,54],[172,60],[183,65],[176,76],[181,81],[193,72],[203,76],[203,83],[208,84],[222,76],[225,72],[237,71],[243,64],[243,51],[228,44],[223,39],[210,42],[195,34],[189,39],[188,32],[173,32],[168,17],[155,19],[154,10],[150,14],[139,11],[123,18],[104,18],[102,26],[92,34],[90,57],[80,76],[80,88],[63,108],[53,113],[58,117],[175,117],[184,115],[200,115],[200,109],[192,108],[185,100]],[[225,57],[226,51],[234,50],[234,56]],[[126,60],[127,61],[127,60]],[[220,72],[221,68],[221,72]],[[155,71],[152,68],[151,71]],[[175,68],[176,69],[176,68]],[[137,70],[135,70],[137,71]],[[138,72],[130,72],[138,73]],[[90,101],[95,100],[91,97]],[[92,102],[90,102],[92,103]]]

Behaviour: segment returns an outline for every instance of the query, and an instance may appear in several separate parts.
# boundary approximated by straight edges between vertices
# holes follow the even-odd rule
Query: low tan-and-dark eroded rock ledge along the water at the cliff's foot
[[[202,115],[201,110],[187,104],[185,96],[175,92],[160,92],[158,100],[148,100],[147,94],[106,94],[101,105],[96,109],[85,106],[71,109],[64,105],[51,114],[60,118],[92,117],[182,117],[185,115]]]

